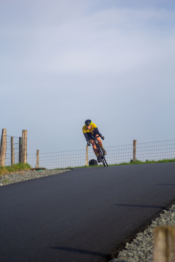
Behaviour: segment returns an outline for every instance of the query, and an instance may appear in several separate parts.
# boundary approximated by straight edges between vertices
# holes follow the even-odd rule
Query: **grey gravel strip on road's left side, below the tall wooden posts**
[[[37,179],[41,177],[52,176],[53,174],[63,173],[69,171],[71,169],[45,169],[45,170],[21,170],[18,172],[7,173],[0,175],[0,186],[6,186],[9,184],[29,180],[29,179]]]

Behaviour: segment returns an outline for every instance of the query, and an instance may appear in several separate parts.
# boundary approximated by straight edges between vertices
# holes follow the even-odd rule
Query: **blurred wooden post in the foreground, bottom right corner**
[[[154,228],[153,261],[175,261],[175,227]]]

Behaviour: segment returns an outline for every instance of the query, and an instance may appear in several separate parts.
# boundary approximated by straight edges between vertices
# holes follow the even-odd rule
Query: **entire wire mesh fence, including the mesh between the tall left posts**
[[[2,154],[2,148],[6,147],[5,165],[11,165],[12,162],[15,164],[21,162],[23,160],[22,143],[27,143],[27,141],[25,141],[21,137],[5,137],[6,142],[4,143],[6,143],[6,145],[1,143],[0,151]],[[0,136],[0,139],[1,138],[2,137]],[[107,151],[106,160],[108,164],[130,162],[130,160],[133,159],[133,144],[105,147],[105,150]],[[96,159],[92,146],[89,147],[88,156],[89,160]],[[162,160],[172,159],[174,157],[175,140],[165,140],[137,144],[136,158],[138,160]],[[85,161],[85,149],[39,154],[39,166],[46,167],[47,169],[83,166],[85,165]],[[27,155],[27,163],[29,163],[33,168],[36,167],[36,154]]]

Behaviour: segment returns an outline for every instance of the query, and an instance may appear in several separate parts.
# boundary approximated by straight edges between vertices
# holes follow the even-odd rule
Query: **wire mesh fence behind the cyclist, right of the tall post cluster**
[[[105,147],[108,164],[130,162],[133,159],[133,144]],[[96,159],[92,147],[89,147],[89,160]],[[136,158],[141,161],[172,159],[175,157],[175,140],[138,143]],[[72,150],[39,154],[39,166],[47,169],[66,168],[85,165],[86,150]],[[36,165],[36,154],[27,155],[27,163]]]

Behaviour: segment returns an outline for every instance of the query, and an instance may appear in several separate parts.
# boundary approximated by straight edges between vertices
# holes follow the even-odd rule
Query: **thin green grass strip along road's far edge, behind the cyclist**
[[[175,158],[172,158],[172,159],[162,159],[162,160],[146,160],[146,161],[140,161],[138,159],[136,159],[135,162],[133,162],[133,159],[130,160],[130,162],[122,162],[122,163],[119,163],[119,164],[109,164],[109,166],[113,166],[113,165],[138,165],[138,164],[155,164],[155,163],[169,163],[169,162],[175,162]],[[86,166],[86,165],[83,165],[83,166],[75,166],[75,167],[67,167],[67,168],[82,168],[82,167],[100,167],[100,166],[103,166],[102,164],[99,164],[99,165],[91,165],[91,166]],[[65,168],[55,168],[55,169],[65,169]]]

